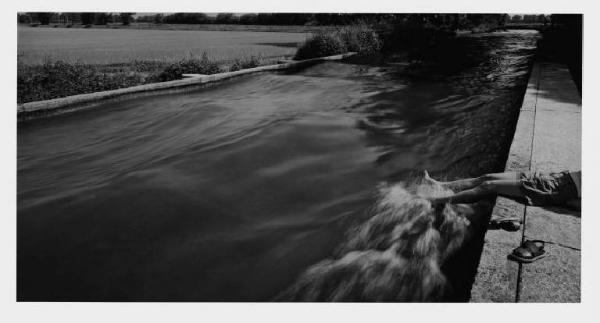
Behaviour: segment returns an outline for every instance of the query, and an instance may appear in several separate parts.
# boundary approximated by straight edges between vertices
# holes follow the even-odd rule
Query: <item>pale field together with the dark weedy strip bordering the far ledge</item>
[[[17,28],[17,102],[214,74],[291,58],[308,33]]]

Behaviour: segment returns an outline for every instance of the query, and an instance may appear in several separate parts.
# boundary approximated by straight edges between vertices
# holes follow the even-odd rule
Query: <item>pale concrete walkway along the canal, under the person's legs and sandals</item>
[[[581,169],[581,97],[565,65],[535,62],[505,171]],[[471,302],[580,302],[581,211],[525,206],[498,197],[492,219],[517,218],[519,231],[488,230]],[[507,255],[525,240],[547,256],[519,264]]]

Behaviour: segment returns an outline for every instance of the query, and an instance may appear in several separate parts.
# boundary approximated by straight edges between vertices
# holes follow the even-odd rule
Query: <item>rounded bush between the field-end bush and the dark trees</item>
[[[383,47],[377,32],[364,23],[343,27],[339,34],[348,51],[361,56],[377,53]]]

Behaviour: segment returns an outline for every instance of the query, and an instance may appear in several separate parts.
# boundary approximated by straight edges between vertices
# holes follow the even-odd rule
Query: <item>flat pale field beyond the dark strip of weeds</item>
[[[177,61],[203,52],[211,60],[281,57],[296,52],[307,33],[32,28],[19,26],[17,50],[23,64],[45,59],[114,64],[132,60]]]

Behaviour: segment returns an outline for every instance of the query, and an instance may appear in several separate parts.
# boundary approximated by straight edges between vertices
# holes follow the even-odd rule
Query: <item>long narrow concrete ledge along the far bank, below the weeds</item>
[[[242,75],[253,74],[253,73],[302,68],[302,67],[310,66],[310,65],[317,64],[320,62],[342,60],[347,57],[353,56],[355,54],[356,53],[349,52],[349,53],[340,54],[340,55],[318,57],[318,58],[312,58],[312,59],[307,59],[307,60],[302,60],[302,61],[290,61],[290,62],[286,62],[286,63],[282,63],[282,64],[259,66],[259,67],[239,70],[239,71],[235,71],[235,72],[226,72],[226,73],[219,73],[219,74],[212,74],[212,75],[186,74],[185,76],[187,76],[187,77],[185,77],[181,80],[143,84],[143,85],[122,88],[122,89],[116,89],[116,90],[110,90],[110,91],[78,94],[78,95],[68,96],[68,97],[64,97],[64,98],[57,98],[57,99],[52,99],[52,100],[27,102],[27,103],[23,103],[23,104],[20,104],[17,106],[17,119],[19,121],[22,121],[22,120],[39,118],[39,117],[45,117],[45,116],[54,115],[54,114],[58,114],[58,113],[76,111],[76,110],[96,106],[102,102],[109,100],[109,99],[115,99],[115,98],[121,98],[121,97],[130,98],[130,97],[132,97],[132,95],[135,95],[135,94],[142,94],[142,93],[156,94],[156,93],[158,93],[160,91],[164,91],[164,90],[174,90],[174,89],[181,89],[181,88],[203,85],[206,83],[214,83],[214,82],[219,82],[219,81],[239,77]]]

